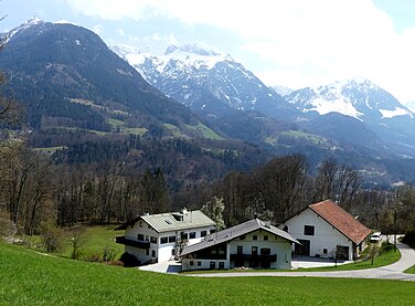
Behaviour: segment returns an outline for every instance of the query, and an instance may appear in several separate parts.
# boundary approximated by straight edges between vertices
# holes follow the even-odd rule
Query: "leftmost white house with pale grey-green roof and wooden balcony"
[[[187,244],[215,232],[215,223],[200,210],[140,215],[116,230],[125,230],[116,242],[141,264],[174,260]]]

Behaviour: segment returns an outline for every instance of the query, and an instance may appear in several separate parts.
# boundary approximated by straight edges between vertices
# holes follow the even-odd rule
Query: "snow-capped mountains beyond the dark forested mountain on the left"
[[[231,55],[198,45],[170,45],[159,55],[125,45],[113,50],[150,84],[206,118],[223,122],[238,110],[234,117],[243,118],[243,125],[255,126],[246,116],[247,110],[255,110],[279,123],[279,128],[265,133],[265,138],[286,130],[281,125],[285,122],[340,144],[363,147],[377,156],[415,156],[414,114],[369,80],[292,91],[268,87]],[[259,117],[263,119],[259,129],[267,130],[270,120],[264,123],[265,117]],[[276,122],[273,124],[275,127]]]

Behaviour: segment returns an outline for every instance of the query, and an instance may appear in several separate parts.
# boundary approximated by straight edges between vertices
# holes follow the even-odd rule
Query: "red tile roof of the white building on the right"
[[[349,212],[330,200],[311,204],[309,208],[355,244],[360,244],[371,232]]]

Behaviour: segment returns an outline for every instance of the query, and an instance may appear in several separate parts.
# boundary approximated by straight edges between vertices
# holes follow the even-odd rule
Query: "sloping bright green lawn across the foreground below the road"
[[[414,305],[400,281],[164,275],[0,243],[1,305]]]

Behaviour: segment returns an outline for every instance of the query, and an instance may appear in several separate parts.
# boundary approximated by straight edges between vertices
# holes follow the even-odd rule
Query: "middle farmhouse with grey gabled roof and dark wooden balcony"
[[[181,252],[182,270],[291,268],[291,244],[298,241],[258,219],[205,236]]]

